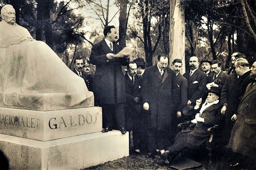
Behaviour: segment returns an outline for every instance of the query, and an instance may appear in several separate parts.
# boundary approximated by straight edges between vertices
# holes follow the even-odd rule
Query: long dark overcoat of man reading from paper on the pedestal
[[[124,57],[108,60],[106,54],[118,53],[121,50],[113,42],[113,51],[105,40],[92,46],[90,62],[96,65],[93,79],[94,105],[125,103],[125,84],[122,65],[127,65],[129,59]]]

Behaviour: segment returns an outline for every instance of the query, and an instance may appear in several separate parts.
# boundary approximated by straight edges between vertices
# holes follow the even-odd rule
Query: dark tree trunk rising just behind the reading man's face
[[[119,45],[121,48],[126,47],[126,16],[127,16],[127,1],[120,1],[119,13]]]

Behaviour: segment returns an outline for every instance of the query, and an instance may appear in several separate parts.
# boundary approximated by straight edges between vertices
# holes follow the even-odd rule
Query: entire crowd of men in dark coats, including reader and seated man
[[[76,59],[74,69],[94,93],[94,105],[102,107],[103,133],[130,131],[135,153],[143,149],[146,158],[160,155],[168,165],[184,148],[207,144],[207,129],[219,124],[220,145],[232,151],[227,153],[230,166],[255,167],[256,62],[250,69],[246,56],[237,52],[223,71],[220,60],[192,56],[190,70],[181,75],[184,63],[174,59],[169,66],[166,54],[148,68],[141,57],[116,57],[121,50],[116,28],[106,26],[103,33],[105,39],[92,47],[90,61]],[[89,62],[96,65],[93,78]],[[190,125],[179,132],[177,125],[184,121]]]

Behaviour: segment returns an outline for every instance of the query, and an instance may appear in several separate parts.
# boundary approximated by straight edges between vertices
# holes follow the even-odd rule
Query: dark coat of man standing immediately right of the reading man
[[[134,84],[132,84],[128,73],[125,74],[125,91],[126,91],[126,107],[125,107],[125,127],[127,130],[137,129],[141,120],[141,95],[140,82],[141,78],[138,75],[134,76]],[[134,102],[134,98],[139,97],[138,103]]]

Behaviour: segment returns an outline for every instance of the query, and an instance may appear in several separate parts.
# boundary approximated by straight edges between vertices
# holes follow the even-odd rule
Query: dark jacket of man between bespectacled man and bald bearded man
[[[177,110],[181,112],[183,107],[185,107],[188,102],[188,81],[180,73],[176,76],[176,78],[179,87],[179,104]]]

